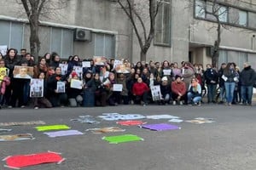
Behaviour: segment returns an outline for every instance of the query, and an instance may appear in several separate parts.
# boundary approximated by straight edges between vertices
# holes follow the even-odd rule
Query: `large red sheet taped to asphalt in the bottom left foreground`
[[[53,163],[57,162],[60,164],[65,159],[60,156],[59,153],[55,152],[43,152],[31,155],[16,155],[8,156],[3,159],[6,161],[4,167],[19,169],[20,167],[29,167],[33,165],[39,165],[42,163]]]

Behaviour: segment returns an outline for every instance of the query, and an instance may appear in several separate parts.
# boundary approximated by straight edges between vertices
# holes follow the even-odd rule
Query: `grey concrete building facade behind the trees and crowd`
[[[55,0],[53,0],[55,1]],[[219,0],[222,23],[218,65],[249,61],[256,67],[255,0]],[[135,1],[136,3],[136,1]],[[211,63],[216,20],[207,14],[211,1],[162,0],[147,61]],[[202,8],[205,7],[205,8]],[[0,1],[0,45],[29,49],[29,26],[16,0]],[[40,18],[40,55],[57,52],[61,58],[106,56],[140,59],[136,34],[115,0],[69,0],[65,8]]]

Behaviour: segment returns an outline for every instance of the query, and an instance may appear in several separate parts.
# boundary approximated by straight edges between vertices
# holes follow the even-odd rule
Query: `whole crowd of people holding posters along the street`
[[[89,65],[84,66],[83,62]],[[232,62],[223,63],[219,69],[212,68],[211,64],[204,69],[201,64],[192,65],[186,61],[178,64],[167,60],[132,64],[123,59],[118,66],[115,59],[100,63],[96,65],[94,59],[80,59],[78,55],[61,61],[57,53],[44,54],[36,63],[26,49],[21,49],[18,54],[15,48],[9,48],[5,55],[0,54],[0,106],[23,108],[33,105],[38,109],[201,105],[205,94],[208,104],[252,105],[256,74],[249,63],[244,63],[241,71]],[[123,71],[118,71],[121,67]],[[32,73],[28,74],[28,68],[32,68]],[[44,81],[43,87],[33,86],[32,91],[34,78]],[[154,91],[155,87],[159,91]]]

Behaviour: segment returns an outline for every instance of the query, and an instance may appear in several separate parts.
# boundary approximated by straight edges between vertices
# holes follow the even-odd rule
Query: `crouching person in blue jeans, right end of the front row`
[[[189,85],[188,105],[201,105],[201,85],[196,78]]]

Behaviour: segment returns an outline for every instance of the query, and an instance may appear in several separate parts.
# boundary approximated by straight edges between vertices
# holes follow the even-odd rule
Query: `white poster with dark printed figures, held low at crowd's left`
[[[30,97],[44,97],[44,79],[32,78],[30,82]]]

